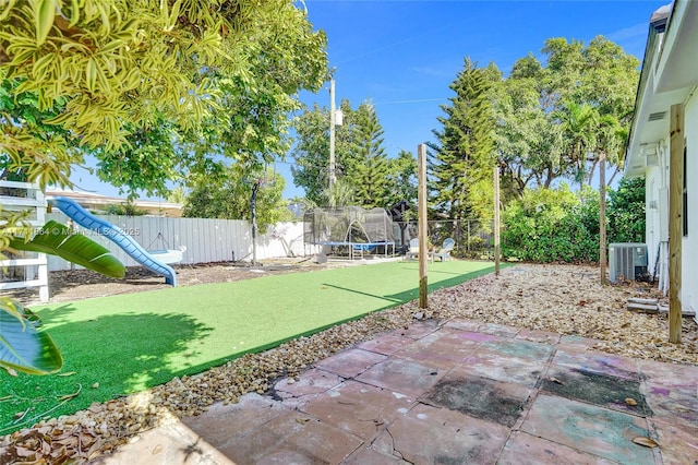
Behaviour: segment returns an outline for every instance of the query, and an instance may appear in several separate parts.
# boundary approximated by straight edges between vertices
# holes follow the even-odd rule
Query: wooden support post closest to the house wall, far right
[[[672,105],[669,164],[669,342],[681,344],[684,238],[684,105]]]

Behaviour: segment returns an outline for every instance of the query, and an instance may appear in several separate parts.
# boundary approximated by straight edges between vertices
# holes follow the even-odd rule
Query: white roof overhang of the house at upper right
[[[652,13],[630,127],[625,176],[645,175],[647,144],[669,133],[670,109],[698,85],[698,1],[676,0]]]

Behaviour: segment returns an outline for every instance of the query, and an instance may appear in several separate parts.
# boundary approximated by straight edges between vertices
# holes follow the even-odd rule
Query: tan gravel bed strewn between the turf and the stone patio
[[[574,334],[599,339],[592,347],[597,350],[698,365],[698,325],[693,318],[684,318],[683,343],[670,344],[667,317],[627,311],[629,297],[662,298],[649,285],[601,286],[598,269],[590,266],[520,264],[503,270],[500,277],[482,276],[431,294],[425,312],[412,301],[0,437],[0,463],[97,458],[140,432],[197,415],[215,402],[237,402],[250,392],[264,394],[276,380],[296,377],[359,342],[406,329],[416,317],[438,322],[462,318]]]

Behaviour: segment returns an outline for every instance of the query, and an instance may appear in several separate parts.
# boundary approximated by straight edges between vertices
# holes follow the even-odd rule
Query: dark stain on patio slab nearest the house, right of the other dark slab
[[[563,397],[642,417],[653,415],[645,395],[640,392],[640,382],[637,380],[579,369],[551,369],[542,384],[543,391]],[[637,405],[626,404],[626,398],[635,400]]]

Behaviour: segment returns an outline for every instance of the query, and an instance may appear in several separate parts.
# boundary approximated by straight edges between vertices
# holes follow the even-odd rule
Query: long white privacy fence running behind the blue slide
[[[252,260],[252,230],[245,220],[117,215],[99,217],[120,227],[146,250],[182,250],[183,264]],[[57,210],[47,214],[46,218],[70,224],[68,216]],[[119,246],[98,233],[77,225],[73,227],[77,234],[84,234],[105,246],[124,265],[139,265]],[[302,223],[281,223],[269,227],[265,235],[257,236],[257,260],[303,253]],[[48,258],[49,271],[71,270],[72,266],[61,258]]]

